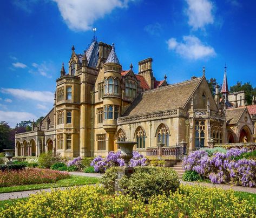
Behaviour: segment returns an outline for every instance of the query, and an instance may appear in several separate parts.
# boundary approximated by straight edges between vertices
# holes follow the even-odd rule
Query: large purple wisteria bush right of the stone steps
[[[235,160],[248,152],[247,148],[231,148],[226,154],[217,152],[209,156],[204,150],[195,151],[183,159],[186,171],[195,171],[213,183],[233,183],[241,186],[256,186],[256,161]]]

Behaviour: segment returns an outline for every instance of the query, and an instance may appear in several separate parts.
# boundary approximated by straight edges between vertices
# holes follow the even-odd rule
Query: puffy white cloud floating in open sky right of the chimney
[[[168,49],[178,53],[181,57],[198,60],[216,55],[213,47],[208,46],[195,36],[183,36],[183,42],[177,42],[175,38],[167,41]]]

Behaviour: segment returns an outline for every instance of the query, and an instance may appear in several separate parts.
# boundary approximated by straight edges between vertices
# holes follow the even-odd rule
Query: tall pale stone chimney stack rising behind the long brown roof
[[[139,75],[144,77],[150,88],[155,87],[155,77],[152,71],[152,58],[147,58],[139,62]]]

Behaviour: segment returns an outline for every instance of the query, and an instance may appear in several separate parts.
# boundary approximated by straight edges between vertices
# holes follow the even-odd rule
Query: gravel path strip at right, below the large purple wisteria
[[[243,186],[231,186],[231,185],[224,185],[224,184],[212,184],[212,183],[207,183],[207,182],[185,182],[185,181],[181,181],[180,183],[182,184],[188,184],[188,185],[200,185],[200,186],[208,186],[208,187],[216,187],[216,188],[222,188],[225,190],[228,189],[233,189],[235,191],[239,191],[239,192],[248,192],[248,193],[253,193],[256,194],[256,188],[249,188],[249,187],[243,187]]]

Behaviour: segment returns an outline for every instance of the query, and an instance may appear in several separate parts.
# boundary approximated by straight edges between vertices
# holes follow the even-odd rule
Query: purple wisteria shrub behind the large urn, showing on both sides
[[[96,156],[91,162],[91,166],[94,167],[94,171],[97,173],[103,173],[106,169],[116,166],[124,166],[124,160],[120,158],[121,152],[109,152],[106,158],[102,158],[101,155]],[[133,158],[130,160],[130,166],[146,166],[146,158],[139,152],[133,152]]]

